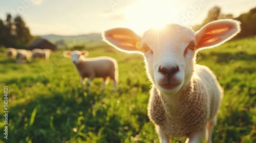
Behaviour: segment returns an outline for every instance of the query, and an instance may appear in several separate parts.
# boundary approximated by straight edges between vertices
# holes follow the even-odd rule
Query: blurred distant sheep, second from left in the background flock
[[[32,52],[25,49],[17,49],[16,63],[22,64],[24,62],[30,61]]]

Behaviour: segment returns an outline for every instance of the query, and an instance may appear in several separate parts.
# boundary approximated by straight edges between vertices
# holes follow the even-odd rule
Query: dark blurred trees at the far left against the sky
[[[21,16],[13,18],[11,14],[7,14],[6,20],[0,19],[0,46],[26,49],[32,38]]]

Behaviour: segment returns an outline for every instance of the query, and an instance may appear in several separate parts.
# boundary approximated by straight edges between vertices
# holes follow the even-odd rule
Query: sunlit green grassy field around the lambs
[[[0,100],[0,142],[159,142],[147,117],[151,83],[143,57],[112,47],[87,49],[89,57],[111,56],[119,64],[119,87],[112,82],[100,92],[82,90],[71,59],[54,52],[49,61],[16,65],[0,53],[1,97],[8,86],[8,139],[4,138],[4,101]],[[198,63],[207,65],[223,87],[224,99],[213,142],[256,142],[256,39],[227,42],[204,50]],[[173,138],[172,142],[184,142]]]

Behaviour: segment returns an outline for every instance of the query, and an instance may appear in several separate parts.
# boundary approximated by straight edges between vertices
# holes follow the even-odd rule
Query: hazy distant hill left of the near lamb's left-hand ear
[[[62,36],[62,35],[41,35],[41,38],[47,39],[54,44],[63,46],[65,43],[66,46],[69,45],[86,45],[90,46],[99,46],[105,45],[105,42],[102,41],[101,34],[99,33],[92,33],[92,34],[83,34],[83,35],[72,35],[72,36]]]

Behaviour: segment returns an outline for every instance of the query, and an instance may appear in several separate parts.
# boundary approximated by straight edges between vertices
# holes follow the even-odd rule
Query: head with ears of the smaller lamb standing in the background
[[[88,51],[64,51],[63,56],[66,58],[71,58],[74,64],[78,64],[84,57],[89,55]]]

